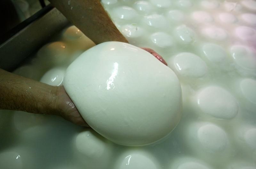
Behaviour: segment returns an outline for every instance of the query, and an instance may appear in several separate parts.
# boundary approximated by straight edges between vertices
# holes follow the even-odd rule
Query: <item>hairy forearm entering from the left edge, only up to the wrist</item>
[[[0,69],[0,109],[54,113],[57,87]]]

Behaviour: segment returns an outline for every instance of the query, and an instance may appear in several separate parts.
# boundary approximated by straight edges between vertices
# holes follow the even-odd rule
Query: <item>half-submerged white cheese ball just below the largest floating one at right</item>
[[[187,120],[181,132],[187,151],[193,152],[194,157],[209,164],[215,164],[216,161],[224,164],[232,158],[232,138],[229,138],[229,133],[216,123]]]

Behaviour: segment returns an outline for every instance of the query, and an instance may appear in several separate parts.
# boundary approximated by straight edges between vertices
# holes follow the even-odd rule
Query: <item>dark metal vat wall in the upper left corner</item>
[[[1,69],[14,70],[20,62],[69,24],[60,11],[51,6],[35,15],[15,27],[10,33],[11,37],[0,45]]]

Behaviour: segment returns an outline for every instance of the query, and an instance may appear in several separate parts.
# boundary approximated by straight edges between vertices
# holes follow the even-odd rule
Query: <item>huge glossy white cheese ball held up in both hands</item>
[[[180,121],[175,73],[127,43],[105,42],[85,51],[70,64],[63,84],[84,120],[114,143],[154,143]]]

